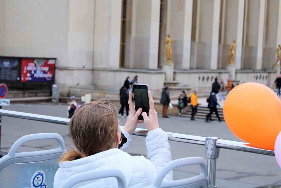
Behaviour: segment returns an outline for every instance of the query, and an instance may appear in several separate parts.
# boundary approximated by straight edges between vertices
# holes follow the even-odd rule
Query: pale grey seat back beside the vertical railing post
[[[164,177],[174,168],[180,166],[187,166],[199,164],[201,172],[200,175],[191,178],[185,178],[182,180],[163,181]],[[207,163],[202,157],[188,157],[182,159],[176,159],[169,162],[164,166],[161,172],[153,180],[152,187],[159,188],[208,188],[209,181],[207,178]]]

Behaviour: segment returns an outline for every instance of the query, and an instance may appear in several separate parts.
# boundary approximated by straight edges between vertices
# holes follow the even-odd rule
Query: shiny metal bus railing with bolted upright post
[[[9,110],[0,110],[0,116],[43,121],[47,123],[56,123],[61,125],[68,125],[70,121],[70,119],[68,118],[59,118],[54,116],[45,116],[45,115],[23,113],[23,112],[9,111]],[[146,131],[146,129],[137,128],[135,132],[133,132],[132,134],[136,136],[147,136],[147,134],[143,133],[143,131]],[[220,148],[274,156],[274,151],[254,148],[249,146],[248,143],[244,143],[244,142],[224,140],[224,139],[219,139],[217,137],[193,136],[193,135],[179,134],[173,132],[167,132],[167,134],[169,136],[170,141],[205,145],[207,149],[207,147],[210,146],[208,145],[208,141],[206,141],[208,139],[209,141],[211,140],[212,142],[210,144],[216,146],[214,147],[214,150],[212,150],[214,155],[212,155],[212,153],[210,154],[206,152],[206,158],[208,159],[209,187],[217,187],[216,186],[216,160],[219,157]]]

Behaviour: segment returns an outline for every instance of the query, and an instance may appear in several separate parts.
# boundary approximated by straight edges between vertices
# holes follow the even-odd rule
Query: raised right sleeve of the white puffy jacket
[[[162,129],[153,129],[146,137],[147,156],[155,166],[157,173],[172,160],[168,134]],[[164,180],[173,180],[173,171],[170,171]]]

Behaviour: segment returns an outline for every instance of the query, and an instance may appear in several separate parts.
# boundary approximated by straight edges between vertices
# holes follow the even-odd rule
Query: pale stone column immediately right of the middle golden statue
[[[237,36],[236,36],[236,53],[235,53],[235,61],[234,61],[236,64],[236,69],[238,69],[238,70],[241,69],[241,62],[242,62],[244,8],[245,8],[245,0],[239,0]]]

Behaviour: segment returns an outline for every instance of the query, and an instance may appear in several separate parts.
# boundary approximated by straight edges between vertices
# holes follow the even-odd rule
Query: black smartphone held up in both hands
[[[149,100],[148,100],[148,85],[147,84],[133,84],[133,94],[136,111],[142,108],[142,112],[146,112],[148,116]],[[143,120],[142,115],[139,115],[138,120]]]

